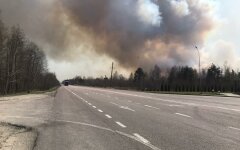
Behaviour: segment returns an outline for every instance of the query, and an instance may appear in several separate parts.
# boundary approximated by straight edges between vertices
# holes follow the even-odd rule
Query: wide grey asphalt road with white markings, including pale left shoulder
[[[238,98],[68,86],[0,114],[36,128],[36,150],[240,150]]]

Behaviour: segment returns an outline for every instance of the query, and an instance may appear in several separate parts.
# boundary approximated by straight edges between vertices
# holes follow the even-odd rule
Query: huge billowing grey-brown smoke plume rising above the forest
[[[1,1],[9,7],[8,0]],[[204,44],[215,26],[209,0],[16,1],[28,4],[36,22],[34,29],[25,30],[57,60],[70,61],[90,51],[125,68],[191,65],[193,46]]]

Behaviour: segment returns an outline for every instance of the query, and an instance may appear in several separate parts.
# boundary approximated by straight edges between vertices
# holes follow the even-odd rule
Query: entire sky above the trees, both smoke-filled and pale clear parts
[[[1,19],[20,25],[46,53],[60,81],[76,75],[129,76],[150,70],[215,63],[240,67],[240,1],[0,0]]]

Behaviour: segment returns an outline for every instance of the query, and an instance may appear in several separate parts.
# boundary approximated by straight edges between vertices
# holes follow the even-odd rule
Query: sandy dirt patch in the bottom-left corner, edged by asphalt
[[[0,123],[0,150],[32,150],[37,132],[32,128]]]

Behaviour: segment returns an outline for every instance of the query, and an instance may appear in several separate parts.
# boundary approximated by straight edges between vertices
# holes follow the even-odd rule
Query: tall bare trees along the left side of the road
[[[19,26],[9,29],[0,20],[0,94],[58,86],[46,62],[44,52],[26,38]]]

